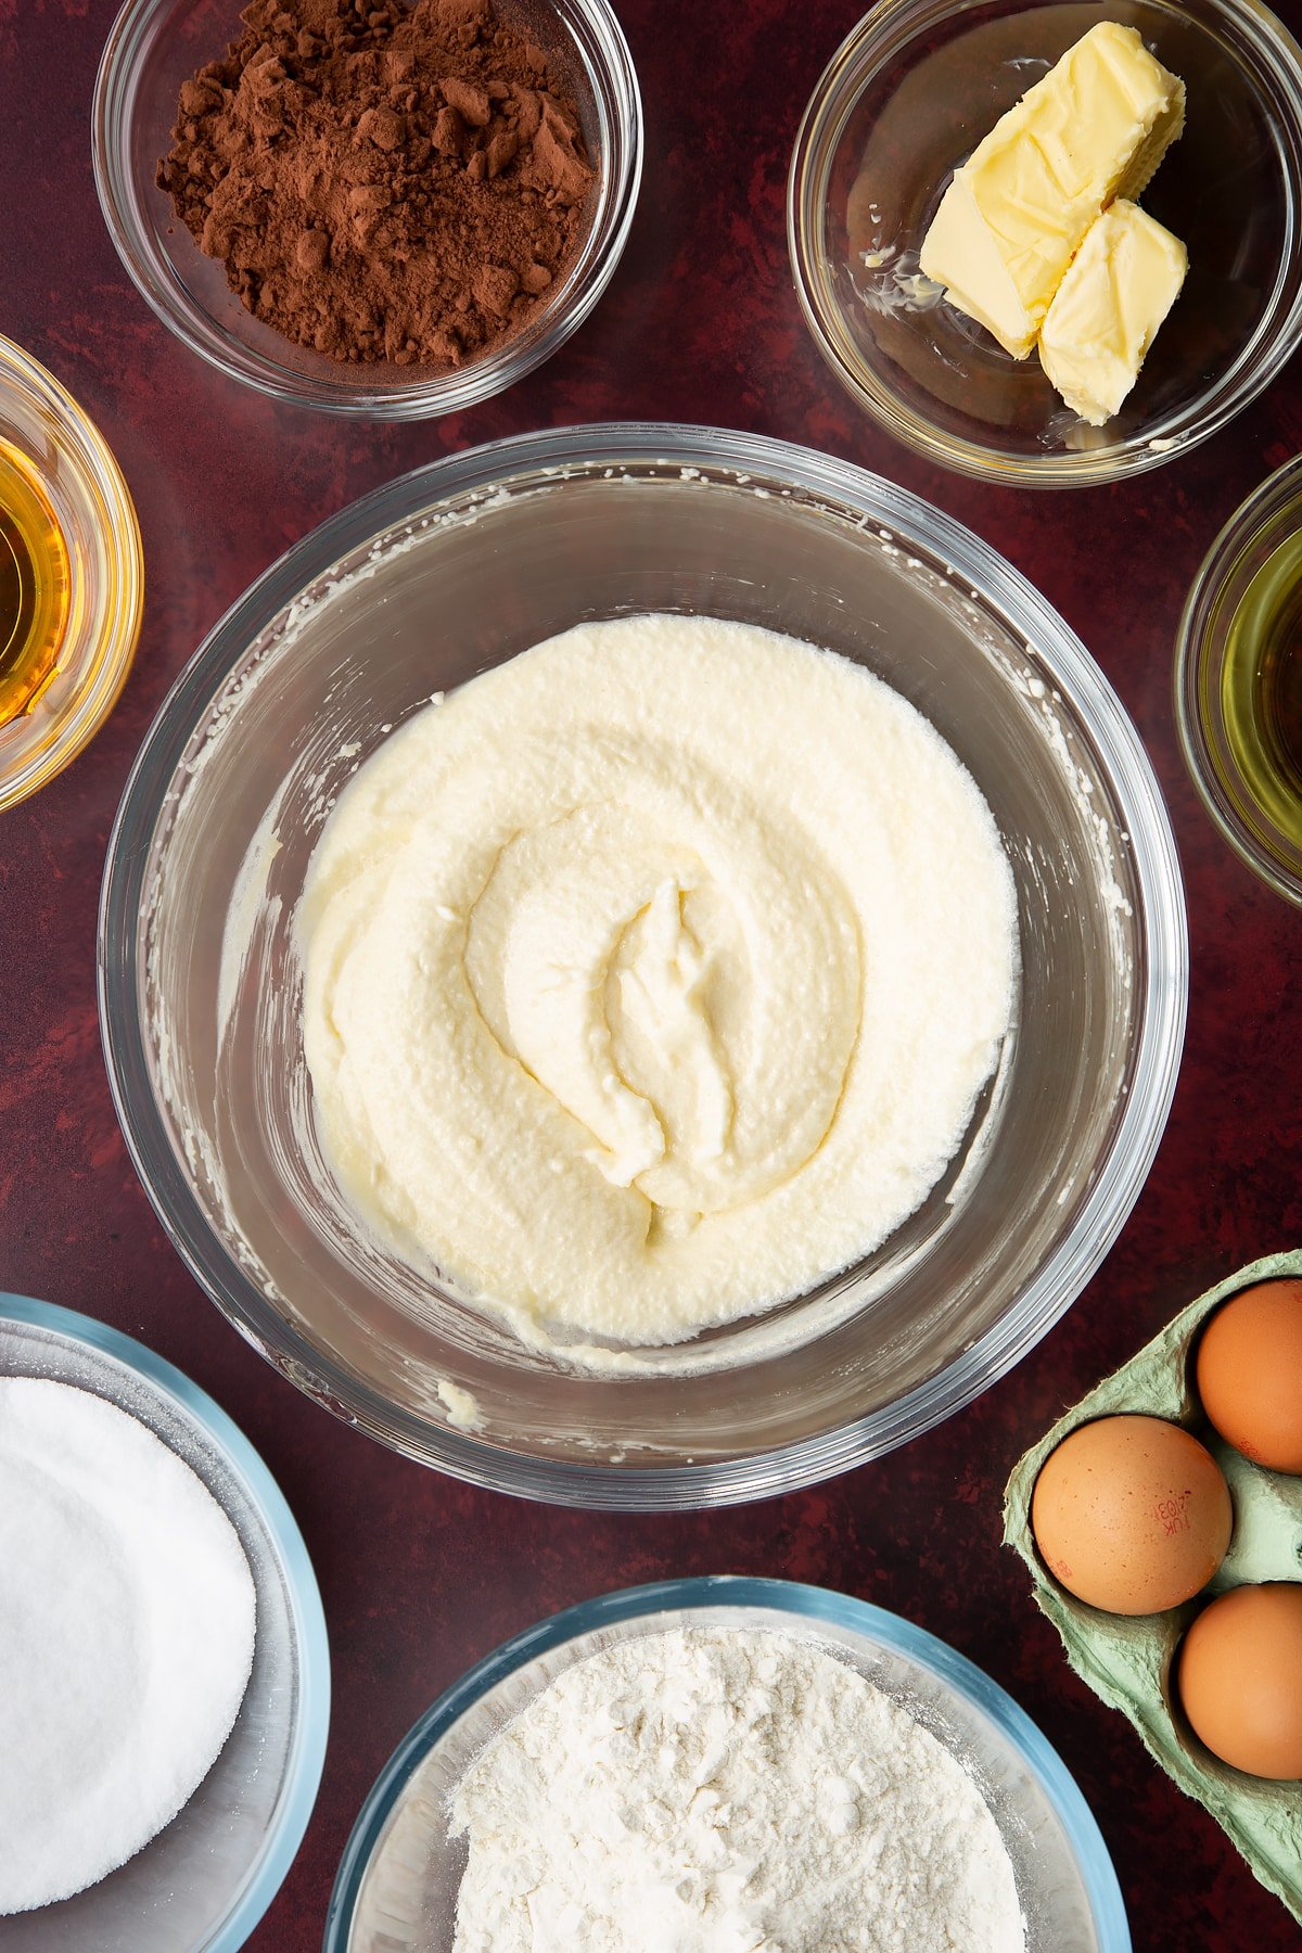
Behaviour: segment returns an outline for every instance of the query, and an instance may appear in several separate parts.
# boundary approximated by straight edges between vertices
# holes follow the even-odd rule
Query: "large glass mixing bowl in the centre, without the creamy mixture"
[[[912,699],[1001,830],[1023,978],[964,1146],[876,1254],[763,1316],[593,1375],[435,1287],[342,1199],[312,1133],[293,910],[334,797],[392,727],[568,625],[629,611],[767,625]],[[154,1207],[287,1377],[480,1484],[658,1508],[843,1471],[1038,1342],[1152,1162],[1187,941],[1134,728],[992,549],[806,449],[593,426],[408,475],[236,603],[127,785],[100,982],[117,1109]]]

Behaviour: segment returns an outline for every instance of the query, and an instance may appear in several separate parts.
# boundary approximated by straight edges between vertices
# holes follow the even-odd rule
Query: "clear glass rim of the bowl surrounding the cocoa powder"
[[[482,400],[504,393],[515,381],[533,373],[578,332],[590,316],[623,256],[636,211],[646,148],[646,119],[642,94],[625,31],[609,0],[552,0],[560,18],[570,10],[582,18],[599,53],[599,66],[615,104],[613,152],[597,176],[597,211],[591,236],[599,236],[590,264],[574,283],[562,281],[562,303],[465,367],[437,373],[433,379],[408,385],[365,385],[365,381],[318,387],[310,375],[281,367],[267,353],[240,342],[207,311],[191,301],[182,305],[172,287],[150,270],[150,252],[133,211],[133,172],[123,158],[127,131],[135,111],[135,78],[141,49],[156,18],[178,0],[125,0],[109,27],[96,72],[90,113],[92,162],[96,195],[113,248],[133,285],[156,318],[209,367],[224,379],[252,387],[256,393],[301,406],[310,412],[353,420],[433,420],[461,414]],[[615,164],[609,168],[609,164]],[[158,195],[164,195],[158,191]],[[197,250],[197,246],[195,246]],[[365,373],[365,367],[347,367]]]

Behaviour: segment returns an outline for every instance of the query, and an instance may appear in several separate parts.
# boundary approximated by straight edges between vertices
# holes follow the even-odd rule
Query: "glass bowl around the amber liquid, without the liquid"
[[[59,670],[31,711],[0,727],[0,810],[61,773],[127,682],[144,603],[141,531],[103,436],[53,373],[0,338],[0,441],[31,465],[68,549]]]

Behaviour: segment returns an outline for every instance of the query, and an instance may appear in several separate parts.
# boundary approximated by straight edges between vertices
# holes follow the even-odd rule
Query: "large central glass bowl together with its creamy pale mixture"
[[[109,846],[127,1143],[213,1301],[406,1455],[767,1496],[917,1435],[1138,1197],[1187,941],[1044,600],[845,463],[574,428],[217,627]]]

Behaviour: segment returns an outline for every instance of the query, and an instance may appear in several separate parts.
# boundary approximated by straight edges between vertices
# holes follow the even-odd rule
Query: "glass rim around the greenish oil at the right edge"
[[[1175,707],[1175,728],[1179,732],[1185,768],[1193,779],[1199,799],[1212,826],[1234,848],[1267,887],[1282,894],[1286,902],[1302,908],[1302,877],[1284,861],[1269,855],[1263,844],[1238,818],[1230,797],[1216,783],[1216,769],[1210,762],[1208,738],[1202,730],[1199,711],[1200,682],[1214,670],[1224,652],[1224,643],[1212,646],[1212,609],[1220,600],[1226,582],[1236,574],[1240,561],[1271,523],[1292,504],[1296,521],[1294,533],[1302,531],[1302,455],[1292,455],[1282,467],[1267,475],[1216,533],[1210,549],[1202,557],[1189,586],[1179,625],[1175,627],[1175,658],[1171,666],[1171,697]],[[1281,535],[1281,543],[1284,537]],[[1210,660],[1216,660],[1212,666]]]

